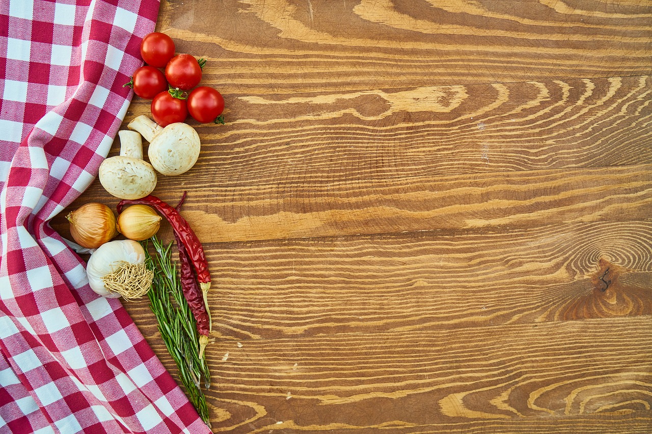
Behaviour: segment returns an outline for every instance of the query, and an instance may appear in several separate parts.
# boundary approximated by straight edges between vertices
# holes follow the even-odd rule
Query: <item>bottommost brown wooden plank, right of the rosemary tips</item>
[[[213,427],[644,433],[652,427],[650,319],[218,340]]]

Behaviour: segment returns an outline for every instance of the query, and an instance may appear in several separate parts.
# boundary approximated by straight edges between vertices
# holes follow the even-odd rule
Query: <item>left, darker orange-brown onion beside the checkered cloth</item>
[[[70,235],[77,244],[96,249],[118,235],[113,211],[102,203],[82,205],[66,216],[70,222]]]

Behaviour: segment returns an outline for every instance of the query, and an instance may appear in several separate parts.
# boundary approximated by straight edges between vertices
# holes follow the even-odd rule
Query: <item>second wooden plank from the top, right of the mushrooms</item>
[[[649,76],[374,89],[225,89],[226,126],[190,121],[201,158],[185,175],[160,177],[161,187],[652,163]],[[134,98],[126,122],[143,113],[149,102]]]

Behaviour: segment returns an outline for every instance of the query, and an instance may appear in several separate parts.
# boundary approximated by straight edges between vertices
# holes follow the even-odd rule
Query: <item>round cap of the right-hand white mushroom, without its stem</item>
[[[185,173],[200,156],[200,136],[186,123],[170,124],[149,143],[147,156],[152,166],[162,175]]]

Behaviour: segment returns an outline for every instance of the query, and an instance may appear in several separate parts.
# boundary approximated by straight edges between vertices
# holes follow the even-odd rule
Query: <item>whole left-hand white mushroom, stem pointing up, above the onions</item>
[[[143,160],[143,142],[140,134],[121,130],[120,155],[107,158],[100,164],[100,184],[119,199],[140,199],[156,188],[156,171]]]

